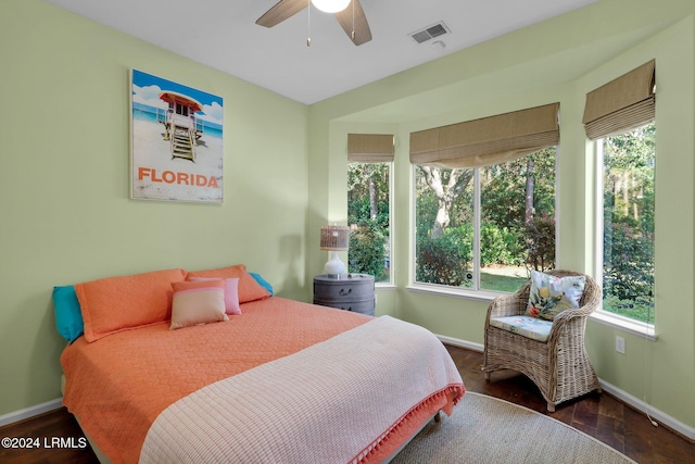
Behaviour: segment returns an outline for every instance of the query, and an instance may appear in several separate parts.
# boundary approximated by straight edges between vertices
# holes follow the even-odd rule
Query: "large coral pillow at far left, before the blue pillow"
[[[184,269],[155,271],[77,284],[75,292],[85,319],[85,339],[169,319],[172,283],[182,281]]]

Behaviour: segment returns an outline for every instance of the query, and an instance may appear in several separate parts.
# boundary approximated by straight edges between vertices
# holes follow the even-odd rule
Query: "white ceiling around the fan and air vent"
[[[257,26],[278,0],[46,1],[311,104],[597,0],[361,0],[374,38],[359,47],[313,7]],[[440,21],[444,49],[408,36]]]

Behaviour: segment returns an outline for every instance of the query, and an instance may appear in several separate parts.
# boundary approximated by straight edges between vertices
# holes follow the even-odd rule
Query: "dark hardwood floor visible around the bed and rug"
[[[546,412],[546,404],[536,387],[525,376],[511,371],[492,374],[485,381],[480,372],[482,354],[476,351],[447,346],[466,389],[547,414],[624,453],[639,463],[686,464],[695,463],[695,443],[667,429],[654,427],[647,417],[614,397],[590,394],[577,401],[560,404],[555,413]],[[39,439],[38,449],[0,448],[0,463],[97,463],[97,457],[87,446],[79,448],[84,437],[74,417],[60,409],[21,423],[0,428],[0,438]],[[67,439],[75,448],[45,447],[52,437]],[[66,444],[71,444],[67,442]]]

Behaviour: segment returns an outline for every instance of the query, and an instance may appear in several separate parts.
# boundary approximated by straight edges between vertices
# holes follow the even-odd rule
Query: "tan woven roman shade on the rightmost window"
[[[655,61],[586,93],[584,129],[592,140],[626,133],[654,121]]]

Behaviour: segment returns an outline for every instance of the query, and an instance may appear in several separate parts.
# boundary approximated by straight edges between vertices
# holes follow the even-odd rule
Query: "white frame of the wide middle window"
[[[529,153],[532,154],[532,153]],[[556,268],[559,267],[558,258],[560,250],[560,234],[559,234],[559,217],[560,217],[560,184],[559,184],[559,172],[560,172],[560,143],[555,146],[555,263]],[[410,186],[413,189],[413,195],[410,197],[410,216],[413,221],[409,227],[409,234],[412,237],[410,240],[410,275],[409,275],[409,285],[406,287],[410,291],[422,292],[422,293],[432,293],[432,294],[442,294],[455,298],[462,298],[466,300],[472,301],[482,301],[482,302],[491,302],[495,298],[504,294],[509,294],[510,292],[498,291],[498,290],[486,290],[480,288],[480,225],[481,225],[481,199],[482,192],[480,188],[480,167],[473,168],[473,287],[472,288],[460,288],[460,287],[452,287],[447,285],[441,284],[428,284],[428,283],[419,283],[415,280],[416,276],[416,260],[417,260],[417,227],[416,227],[416,217],[417,217],[417,189],[415,188],[416,176],[417,176],[417,165],[413,164],[410,166],[412,173],[412,181]]]

